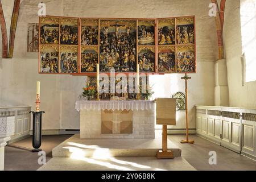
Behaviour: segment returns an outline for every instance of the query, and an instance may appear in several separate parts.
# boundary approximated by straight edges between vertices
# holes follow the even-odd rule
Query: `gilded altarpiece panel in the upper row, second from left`
[[[78,25],[78,18],[60,18],[60,44],[78,45]]]

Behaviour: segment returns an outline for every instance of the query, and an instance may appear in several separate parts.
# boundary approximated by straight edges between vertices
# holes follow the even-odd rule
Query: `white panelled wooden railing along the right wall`
[[[256,159],[256,109],[196,106],[196,134]]]

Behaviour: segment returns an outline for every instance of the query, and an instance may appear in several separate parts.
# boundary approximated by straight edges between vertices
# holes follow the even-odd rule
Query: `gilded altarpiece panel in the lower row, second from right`
[[[175,46],[158,47],[158,72],[175,73]]]

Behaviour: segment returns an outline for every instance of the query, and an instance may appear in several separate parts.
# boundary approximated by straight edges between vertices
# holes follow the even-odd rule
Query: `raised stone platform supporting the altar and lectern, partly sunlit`
[[[53,148],[54,157],[150,157],[162,148],[162,138],[155,139],[80,139],[73,135],[59,146]],[[175,157],[181,156],[181,150],[168,140],[169,150]]]

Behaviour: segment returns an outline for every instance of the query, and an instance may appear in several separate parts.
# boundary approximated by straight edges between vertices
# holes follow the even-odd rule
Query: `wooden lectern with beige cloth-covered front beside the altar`
[[[167,148],[167,125],[176,125],[176,98],[156,98],[156,125],[163,125],[163,149],[156,152],[156,158],[174,159]]]

